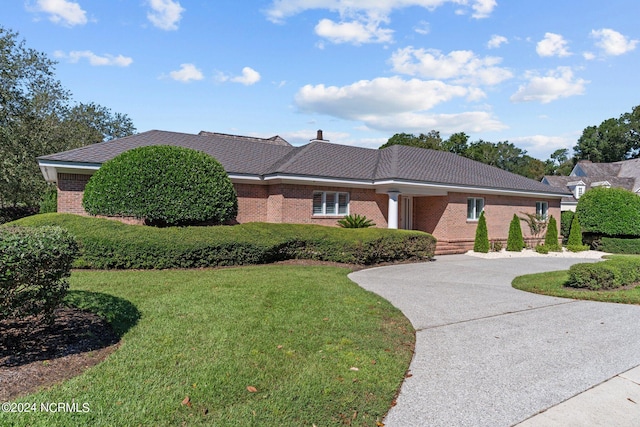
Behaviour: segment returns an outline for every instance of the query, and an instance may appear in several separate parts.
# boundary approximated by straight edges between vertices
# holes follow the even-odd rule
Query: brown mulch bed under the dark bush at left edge
[[[0,402],[79,375],[118,345],[107,321],[77,308],[57,309],[51,325],[35,321],[0,322]]]

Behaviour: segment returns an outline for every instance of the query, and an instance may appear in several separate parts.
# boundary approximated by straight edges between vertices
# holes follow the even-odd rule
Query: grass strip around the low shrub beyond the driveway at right
[[[612,255],[610,258],[615,259],[621,257],[624,256]],[[513,280],[512,286],[516,289],[527,292],[562,298],[616,302],[622,304],[640,304],[640,286],[633,289],[590,291],[565,286],[568,278],[569,275],[567,271],[527,274],[525,276],[516,277]]]

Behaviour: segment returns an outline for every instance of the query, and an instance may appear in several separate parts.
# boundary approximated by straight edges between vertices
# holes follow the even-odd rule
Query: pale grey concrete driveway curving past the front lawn
[[[516,276],[577,262],[588,260],[450,255],[350,274],[416,329],[412,376],[385,425],[511,426],[640,365],[640,306],[511,287]],[[640,401],[624,404],[640,421]]]

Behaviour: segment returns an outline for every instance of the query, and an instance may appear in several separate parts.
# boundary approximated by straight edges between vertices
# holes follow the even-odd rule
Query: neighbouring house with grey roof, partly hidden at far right
[[[569,176],[545,176],[542,178],[542,183],[569,190],[571,195],[562,199],[561,210],[575,212],[578,199],[590,188],[624,188],[638,194],[640,192],[640,159],[614,163],[580,160]]]

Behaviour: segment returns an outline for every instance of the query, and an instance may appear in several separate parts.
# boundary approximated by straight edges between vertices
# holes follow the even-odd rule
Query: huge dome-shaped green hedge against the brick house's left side
[[[92,215],[144,218],[152,225],[224,223],[238,200],[222,165],[212,156],[157,145],[126,151],[91,177],[82,204]]]

